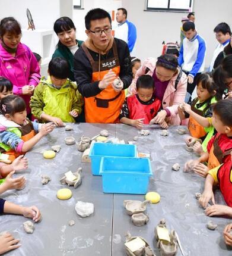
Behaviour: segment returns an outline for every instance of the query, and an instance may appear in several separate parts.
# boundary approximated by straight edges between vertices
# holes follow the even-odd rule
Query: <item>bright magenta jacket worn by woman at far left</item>
[[[13,84],[13,93],[20,95],[27,105],[27,113],[30,113],[30,95],[22,95],[24,85],[37,86],[40,82],[40,68],[31,50],[20,43],[15,57],[12,57],[0,43],[0,76],[3,76]]]

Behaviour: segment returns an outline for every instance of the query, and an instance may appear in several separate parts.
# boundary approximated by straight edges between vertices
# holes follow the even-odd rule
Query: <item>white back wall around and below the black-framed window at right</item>
[[[158,57],[161,54],[163,40],[179,42],[182,25],[180,20],[186,13],[144,11],[145,0],[122,0],[122,7],[128,10],[128,20],[137,28],[136,57],[141,60]],[[194,0],[195,24],[208,45],[206,66],[210,64],[212,52],[217,45],[214,27],[224,21],[232,28],[231,10],[231,0]]]

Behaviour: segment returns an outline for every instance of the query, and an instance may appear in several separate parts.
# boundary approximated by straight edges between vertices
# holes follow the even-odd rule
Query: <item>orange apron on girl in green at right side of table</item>
[[[195,108],[196,102],[198,102],[198,99],[195,99],[192,102],[192,107],[191,107],[192,111],[195,112],[198,115],[201,115],[201,117],[204,117],[205,111],[196,109]],[[198,139],[204,137],[207,134],[205,132],[204,127],[201,126],[201,124],[199,124],[191,116],[189,117],[189,133],[190,133],[191,136],[193,136],[194,138],[198,138]]]

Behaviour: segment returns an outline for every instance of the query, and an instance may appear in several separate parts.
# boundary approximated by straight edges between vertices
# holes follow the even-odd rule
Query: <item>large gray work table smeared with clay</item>
[[[176,127],[170,127],[169,137],[161,137],[160,129],[151,129],[151,135],[139,136],[136,145],[139,152],[150,152],[154,176],[150,179],[149,191],[161,195],[158,204],[147,205],[150,221],[147,225],[136,227],[123,208],[124,199],[144,200],[143,195],[106,194],[102,192],[100,176],[91,175],[91,165],[81,163],[82,152],[75,145],[64,143],[66,136],[74,136],[78,141],[82,135],[92,137],[100,130],[107,129],[110,136],[125,141],[132,141],[138,135],[134,127],[123,124],[71,124],[74,131],[65,132],[57,128],[43,138],[26,154],[29,160],[28,170],[21,171],[27,178],[27,185],[22,191],[8,191],[2,197],[22,205],[36,205],[43,215],[43,220],[36,224],[32,235],[23,231],[22,216],[1,216],[1,229],[13,233],[21,239],[21,248],[6,255],[125,255],[123,243],[127,231],[133,236],[147,239],[155,254],[160,252],[154,243],[154,227],[161,218],[166,218],[167,227],[174,229],[180,237],[185,255],[231,255],[231,251],[223,241],[223,229],[230,223],[227,218],[212,218],[218,224],[218,229],[211,231],[205,224],[211,218],[206,217],[204,210],[195,199],[195,192],[202,192],[204,179],[196,174],[183,173],[186,160],[194,157],[185,151],[185,135],[178,135]],[[43,158],[42,152],[52,145],[61,145],[61,151],[52,160]],[[174,163],[182,167],[180,171],[171,171]],[[68,170],[83,168],[82,184],[70,188],[73,195],[67,201],[56,198],[56,192],[66,186],[59,179]],[[18,173],[16,176],[20,175]],[[47,174],[52,181],[41,184],[41,175]],[[75,204],[77,201],[93,202],[94,214],[87,218],[77,216]],[[216,201],[223,203],[220,193]],[[69,220],[75,220],[70,227]],[[177,255],[181,255],[180,251]]]

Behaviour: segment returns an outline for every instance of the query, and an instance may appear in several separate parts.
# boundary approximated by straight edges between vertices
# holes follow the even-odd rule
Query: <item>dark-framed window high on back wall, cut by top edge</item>
[[[193,0],[147,0],[147,11],[192,12]]]

